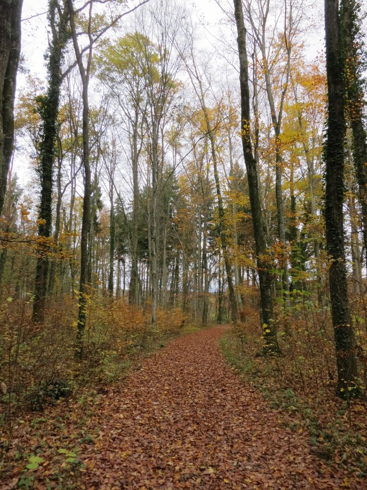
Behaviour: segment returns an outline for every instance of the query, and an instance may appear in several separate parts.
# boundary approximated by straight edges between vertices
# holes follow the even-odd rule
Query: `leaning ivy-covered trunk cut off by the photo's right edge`
[[[353,134],[353,160],[357,174],[359,197],[362,208],[363,237],[367,256],[367,144],[363,124],[363,86],[362,67],[359,62],[360,49],[358,39],[359,0],[342,0],[342,25],[345,51],[345,77],[347,111]]]

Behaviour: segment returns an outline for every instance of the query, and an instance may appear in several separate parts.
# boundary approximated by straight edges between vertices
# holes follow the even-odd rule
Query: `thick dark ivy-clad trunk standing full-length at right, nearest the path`
[[[339,1],[325,0],[327,127],[324,146],[326,244],[331,259],[329,287],[338,368],[337,394],[356,390],[355,342],[348,303],[344,254],[344,63]]]

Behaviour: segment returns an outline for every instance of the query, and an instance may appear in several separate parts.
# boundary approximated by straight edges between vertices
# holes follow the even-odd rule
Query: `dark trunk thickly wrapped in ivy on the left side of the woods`
[[[44,97],[38,98],[39,113],[42,121],[42,137],[38,147],[40,162],[39,175],[41,196],[39,205],[38,258],[34,286],[33,321],[43,322],[45,316],[45,301],[48,277],[48,250],[52,225],[52,188],[53,165],[55,160],[55,141],[57,135],[57,115],[59,109],[61,62],[63,50],[68,39],[68,8],[64,5],[61,12],[57,0],[49,0],[48,18],[52,32],[52,42],[48,54],[48,89]],[[42,242],[41,242],[42,240]]]

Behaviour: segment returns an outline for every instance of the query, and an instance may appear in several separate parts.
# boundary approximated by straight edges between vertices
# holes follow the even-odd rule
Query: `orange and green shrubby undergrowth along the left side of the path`
[[[62,306],[61,306],[62,305]],[[72,298],[54,304],[44,324],[31,321],[26,301],[0,309],[0,443],[8,446],[19,419],[69,398],[87,400],[121,382],[171,339],[199,327],[182,310],[157,310],[157,325],[123,298],[90,297],[83,359],[74,356],[77,308]]]

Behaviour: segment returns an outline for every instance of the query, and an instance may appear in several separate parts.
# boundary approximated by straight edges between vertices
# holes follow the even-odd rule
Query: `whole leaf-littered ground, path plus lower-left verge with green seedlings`
[[[218,346],[226,329],[185,335],[123,382],[25,417],[0,488],[367,489],[243,384]]]

